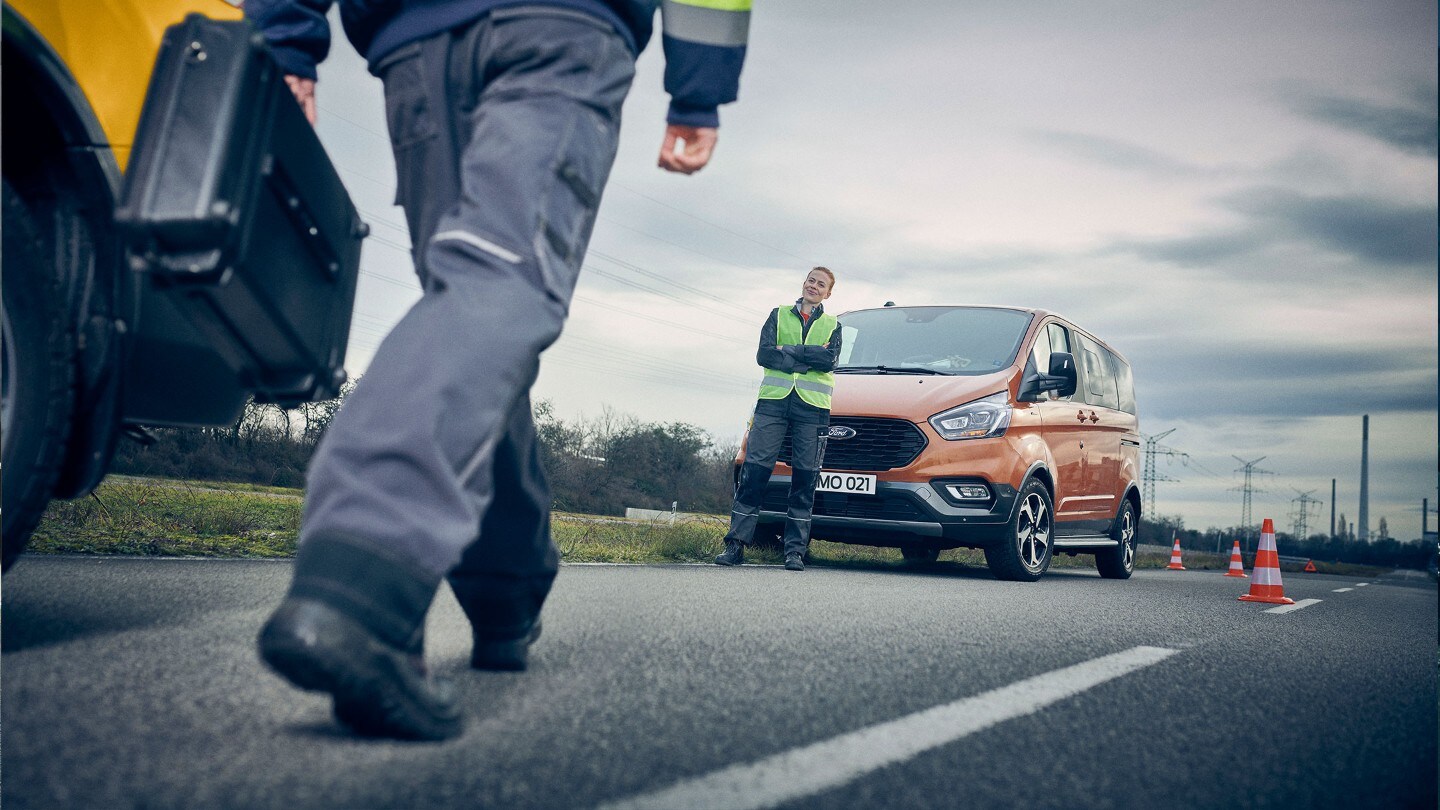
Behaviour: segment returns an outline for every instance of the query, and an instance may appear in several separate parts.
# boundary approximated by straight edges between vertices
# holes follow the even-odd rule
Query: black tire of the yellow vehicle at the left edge
[[[50,502],[75,406],[75,340],[42,219],[4,182],[3,568],[24,551]]]

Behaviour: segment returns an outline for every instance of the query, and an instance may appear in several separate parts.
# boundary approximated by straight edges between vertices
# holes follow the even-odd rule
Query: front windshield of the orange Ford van
[[[837,373],[976,376],[1015,362],[1030,313],[991,307],[886,307],[840,317]]]

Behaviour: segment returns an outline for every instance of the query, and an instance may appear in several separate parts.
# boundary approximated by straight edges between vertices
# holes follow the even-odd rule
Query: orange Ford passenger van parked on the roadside
[[[979,548],[1001,579],[1035,581],[1057,552],[1130,577],[1140,434],[1119,352],[1044,310],[886,306],[840,323],[814,536],[913,562]],[[783,528],[788,460],[759,536]]]

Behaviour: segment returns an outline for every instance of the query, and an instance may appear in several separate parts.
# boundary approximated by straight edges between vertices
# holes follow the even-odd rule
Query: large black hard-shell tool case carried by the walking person
[[[367,226],[248,22],[166,30],[115,221],[141,274],[127,419],[337,395]]]

